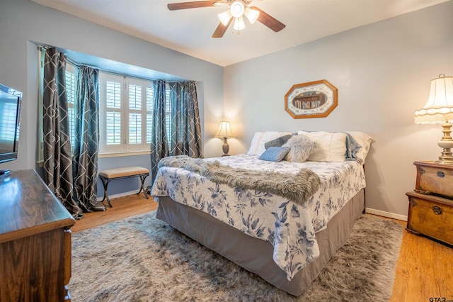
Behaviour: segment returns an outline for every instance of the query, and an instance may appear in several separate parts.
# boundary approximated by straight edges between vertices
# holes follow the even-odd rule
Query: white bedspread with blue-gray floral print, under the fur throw
[[[365,188],[365,173],[358,162],[267,162],[256,155],[215,157],[221,164],[244,169],[296,174],[311,169],[321,178],[319,190],[303,205],[267,192],[215,184],[182,168],[161,167],[151,189],[156,201],[174,201],[210,214],[247,235],[270,242],[273,259],[290,281],[319,256],[315,233]]]

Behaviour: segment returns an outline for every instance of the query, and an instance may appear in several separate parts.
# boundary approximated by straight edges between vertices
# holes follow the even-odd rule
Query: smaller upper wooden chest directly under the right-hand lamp
[[[415,191],[431,192],[453,198],[453,165],[434,162],[415,162],[417,181]]]

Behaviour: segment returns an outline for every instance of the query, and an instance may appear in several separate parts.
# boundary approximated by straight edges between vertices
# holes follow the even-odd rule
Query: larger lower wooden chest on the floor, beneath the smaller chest
[[[407,229],[453,245],[453,201],[438,196],[408,192]]]

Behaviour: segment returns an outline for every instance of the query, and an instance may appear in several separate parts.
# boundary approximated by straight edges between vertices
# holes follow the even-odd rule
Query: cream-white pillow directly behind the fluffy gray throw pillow
[[[319,145],[318,149],[311,153],[307,160],[312,162],[346,161],[346,133],[298,131],[297,134],[306,135]]]

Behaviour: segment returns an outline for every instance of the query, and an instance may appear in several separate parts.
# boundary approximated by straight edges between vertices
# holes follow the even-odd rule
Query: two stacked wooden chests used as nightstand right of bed
[[[414,162],[415,190],[409,198],[407,230],[453,245],[453,165]]]

